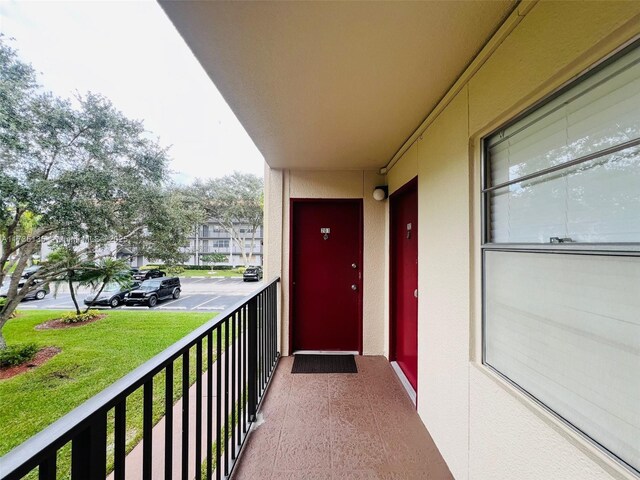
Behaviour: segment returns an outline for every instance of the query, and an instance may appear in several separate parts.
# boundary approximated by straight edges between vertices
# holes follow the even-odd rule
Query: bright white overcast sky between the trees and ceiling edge
[[[92,91],[171,146],[176,180],[263,173],[263,157],[155,1],[0,0],[0,31],[40,83]]]

